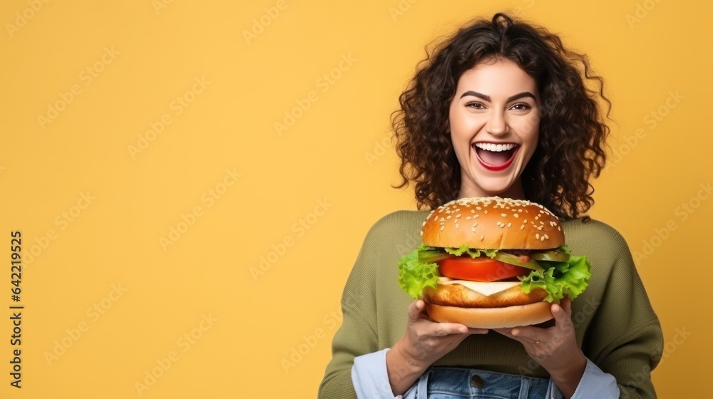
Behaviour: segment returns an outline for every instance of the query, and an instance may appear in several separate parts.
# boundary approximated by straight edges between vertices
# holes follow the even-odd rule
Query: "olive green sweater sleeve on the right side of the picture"
[[[663,334],[628,245],[612,230],[614,264],[590,331],[585,353],[605,373],[614,375],[620,398],[656,398],[651,371],[663,353]]]

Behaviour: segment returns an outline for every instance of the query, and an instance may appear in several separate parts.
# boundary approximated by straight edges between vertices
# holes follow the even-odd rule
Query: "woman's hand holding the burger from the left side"
[[[453,351],[469,335],[488,333],[483,328],[433,321],[424,311],[425,306],[421,300],[409,305],[406,333],[386,353],[386,370],[394,395],[409,390],[426,368]]]

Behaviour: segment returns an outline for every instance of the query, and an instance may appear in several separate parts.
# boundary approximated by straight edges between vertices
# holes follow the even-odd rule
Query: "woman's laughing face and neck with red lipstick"
[[[520,175],[537,147],[539,104],[537,83],[513,61],[481,62],[463,73],[448,113],[459,198],[525,199]]]

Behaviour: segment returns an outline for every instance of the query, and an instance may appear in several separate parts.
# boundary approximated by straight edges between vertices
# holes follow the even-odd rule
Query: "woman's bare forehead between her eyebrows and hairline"
[[[530,91],[537,95],[537,83],[518,64],[509,60],[481,62],[458,79],[458,93],[476,90],[495,98]]]

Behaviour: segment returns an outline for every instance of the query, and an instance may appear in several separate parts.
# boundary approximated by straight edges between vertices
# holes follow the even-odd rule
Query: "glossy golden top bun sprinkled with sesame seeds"
[[[525,199],[473,197],[434,209],[421,229],[431,247],[551,249],[565,244],[560,219]]]

